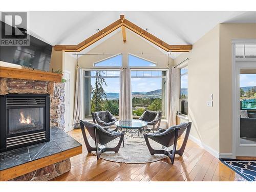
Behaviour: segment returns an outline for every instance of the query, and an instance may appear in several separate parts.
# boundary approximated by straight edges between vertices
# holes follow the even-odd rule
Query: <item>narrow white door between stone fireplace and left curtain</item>
[[[70,131],[70,72],[65,71],[65,131]]]

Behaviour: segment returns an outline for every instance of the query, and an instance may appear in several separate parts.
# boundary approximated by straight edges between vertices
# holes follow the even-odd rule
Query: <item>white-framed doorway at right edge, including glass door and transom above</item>
[[[246,48],[250,57],[246,57]],[[233,155],[256,157],[256,45],[239,44],[234,50]]]

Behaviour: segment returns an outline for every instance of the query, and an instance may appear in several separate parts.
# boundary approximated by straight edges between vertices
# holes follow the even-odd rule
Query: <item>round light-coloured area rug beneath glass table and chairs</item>
[[[125,135],[124,138],[127,138]],[[119,138],[108,143],[108,147],[114,147],[117,145]],[[89,139],[91,146],[95,146],[92,138]],[[151,146],[156,150],[161,150],[162,145],[150,140]],[[92,154],[96,155],[96,152]],[[101,159],[119,162],[119,163],[150,163],[159,161],[166,158],[165,155],[151,155],[145,143],[144,138],[128,138],[124,141],[124,146],[121,145],[118,153],[105,152],[100,155]]]

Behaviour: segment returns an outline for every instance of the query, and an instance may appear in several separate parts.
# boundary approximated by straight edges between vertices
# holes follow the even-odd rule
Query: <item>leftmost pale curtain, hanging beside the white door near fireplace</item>
[[[79,127],[79,120],[82,119],[82,105],[81,105],[81,77],[82,69],[77,68],[76,73],[76,91],[75,91],[75,106],[74,106],[74,115],[73,115],[73,126],[74,128]]]

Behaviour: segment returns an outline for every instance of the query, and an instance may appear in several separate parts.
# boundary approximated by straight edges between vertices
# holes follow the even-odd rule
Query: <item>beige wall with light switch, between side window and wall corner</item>
[[[174,65],[186,58],[190,135],[219,152],[219,25],[200,38],[193,50],[174,59]],[[212,107],[206,105],[210,94]]]

